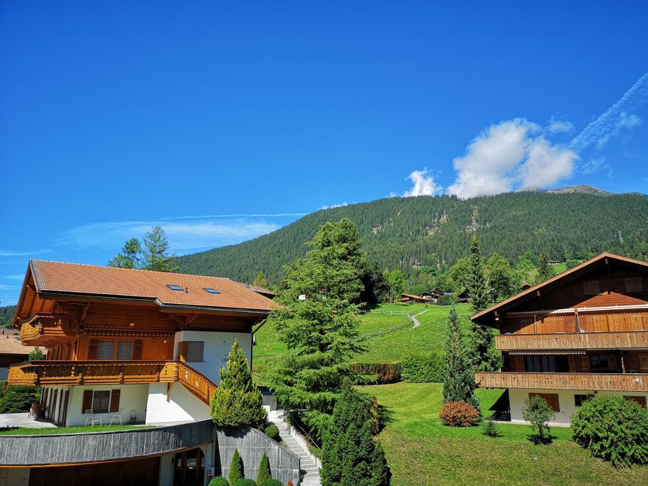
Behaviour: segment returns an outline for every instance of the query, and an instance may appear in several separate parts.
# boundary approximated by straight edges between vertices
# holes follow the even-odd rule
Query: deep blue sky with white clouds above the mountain
[[[0,5],[0,300],[388,195],[648,192],[648,3]]]

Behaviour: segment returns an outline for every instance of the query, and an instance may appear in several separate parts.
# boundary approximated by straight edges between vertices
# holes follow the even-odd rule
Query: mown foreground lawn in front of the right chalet
[[[570,439],[568,428],[551,428],[551,445],[533,445],[531,429],[498,424],[500,437],[481,426],[450,428],[439,422],[441,384],[397,383],[362,387],[375,395],[384,429],[392,486],[422,485],[639,485],[648,467],[614,469],[594,459]],[[502,390],[478,389],[487,411]]]

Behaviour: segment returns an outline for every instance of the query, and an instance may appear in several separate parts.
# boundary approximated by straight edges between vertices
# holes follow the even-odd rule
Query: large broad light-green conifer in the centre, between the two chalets
[[[362,379],[349,359],[364,351],[357,342],[356,304],[362,290],[358,260],[364,254],[348,219],[323,225],[308,245],[306,257],[286,267],[277,299],[284,307],[268,319],[289,353],[266,376],[284,406],[306,410],[303,421],[320,437],[342,384]]]

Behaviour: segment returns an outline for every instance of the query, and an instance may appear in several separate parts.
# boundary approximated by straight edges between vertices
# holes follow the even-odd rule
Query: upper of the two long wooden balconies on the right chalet
[[[495,346],[500,351],[648,349],[648,331],[500,334],[495,336]]]

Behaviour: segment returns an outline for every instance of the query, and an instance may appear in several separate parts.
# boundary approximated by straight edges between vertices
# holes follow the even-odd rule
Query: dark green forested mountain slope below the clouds
[[[179,272],[251,281],[262,270],[277,284],[283,266],[301,257],[321,224],[348,217],[370,260],[381,268],[419,265],[445,270],[469,253],[473,230],[483,255],[514,262],[526,251],[584,259],[601,251],[638,257],[648,249],[648,198],[584,192],[526,191],[459,200],[455,196],[386,198],[325,209],[237,245],[179,257]]]

